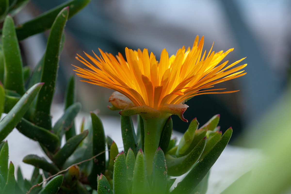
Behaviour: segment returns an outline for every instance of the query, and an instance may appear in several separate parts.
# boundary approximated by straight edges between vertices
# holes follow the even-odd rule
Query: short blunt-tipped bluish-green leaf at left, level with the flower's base
[[[76,102],[75,104],[72,104],[69,106],[63,116],[56,122],[56,124],[53,127],[54,134],[56,134],[60,139],[63,137],[63,134],[65,134],[66,131],[68,131],[77,114],[81,110],[81,103]]]

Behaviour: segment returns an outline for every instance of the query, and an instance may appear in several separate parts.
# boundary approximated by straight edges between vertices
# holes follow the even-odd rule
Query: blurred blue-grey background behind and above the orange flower
[[[21,24],[65,0],[32,0],[16,17]],[[204,48],[218,52],[235,48],[223,60],[233,63],[247,57],[247,74],[217,86],[240,90],[231,94],[200,95],[186,104],[188,120],[197,117],[200,124],[220,114],[224,132],[233,127],[235,137],[262,118],[280,100],[288,86],[291,56],[291,2],[288,0],[92,0],[72,17],[65,28],[66,42],[61,55],[54,103],[62,103],[74,65],[81,65],[76,54],[113,55],[125,47],[147,48],[159,60],[162,49],[175,54],[183,45],[192,46],[196,35],[204,35]],[[21,42],[24,64],[31,69],[45,51],[47,33]],[[79,77],[77,78],[79,80]],[[110,89],[76,81],[77,101],[83,111],[100,110],[100,115],[119,116],[107,108]],[[173,115],[173,127],[186,131],[189,123]]]

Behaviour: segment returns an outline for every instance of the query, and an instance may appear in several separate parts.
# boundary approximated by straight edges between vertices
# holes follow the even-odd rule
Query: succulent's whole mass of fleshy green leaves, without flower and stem
[[[64,27],[67,19],[89,0],[68,1],[17,27],[11,16],[28,1],[15,0],[9,5],[10,2],[1,1],[0,5],[3,10],[1,18],[5,18],[0,47],[0,114],[7,113],[0,122],[2,193],[206,192],[209,170],[232,134],[231,128],[223,135],[219,132],[219,115],[200,128],[198,121],[192,120],[178,145],[175,139],[171,139],[172,119],[167,116],[161,122],[161,136],[156,137],[159,148],[150,161],[152,166],[148,167],[144,147],[149,142],[145,142],[144,121],[140,115],[137,133],[130,116],[120,118],[124,145],[122,152],[110,137],[105,136],[102,121],[94,112],[82,123],[81,133],[76,134],[74,118],[81,110],[81,104],[74,102],[72,76],[66,91],[65,112],[52,126],[50,108],[59,56],[65,42]],[[45,54],[30,75],[29,69],[23,67],[18,41],[47,29],[50,29],[50,34]],[[8,144],[3,140],[14,127],[28,138],[38,141],[50,159],[47,161],[37,155],[28,155],[23,159],[24,163],[35,167],[30,181],[23,179],[20,168],[15,181],[13,163],[8,167]],[[61,147],[63,136],[66,142]],[[105,157],[106,152],[109,159]],[[39,169],[42,169],[45,179]],[[170,192],[175,181],[171,177],[186,173]]]

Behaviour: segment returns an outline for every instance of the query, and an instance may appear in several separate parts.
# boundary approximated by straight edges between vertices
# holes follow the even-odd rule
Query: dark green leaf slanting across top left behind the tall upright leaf
[[[70,8],[69,17],[72,17],[82,8],[84,8],[91,0],[71,0],[65,2],[47,12],[39,15],[38,17],[21,24],[16,27],[18,40],[23,40],[31,35],[44,32],[50,29],[53,25],[54,19],[57,17],[58,13],[65,7]]]

